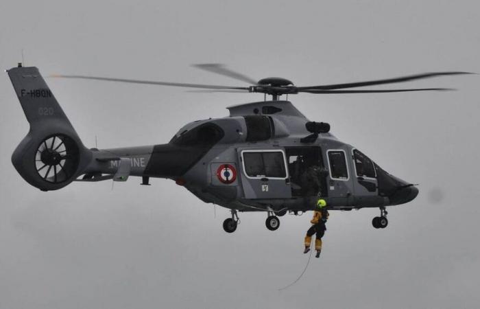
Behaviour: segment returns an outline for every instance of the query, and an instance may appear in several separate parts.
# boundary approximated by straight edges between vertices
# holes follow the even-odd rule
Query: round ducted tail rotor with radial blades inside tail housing
[[[66,135],[49,136],[38,145],[35,168],[49,183],[62,183],[75,174],[80,161],[75,141]]]

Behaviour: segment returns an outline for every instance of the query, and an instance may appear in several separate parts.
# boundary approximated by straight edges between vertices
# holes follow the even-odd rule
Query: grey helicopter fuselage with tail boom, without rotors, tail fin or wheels
[[[206,203],[239,211],[307,211],[317,196],[331,209],[385,207],[418,194],[331,133],[305,141],[309,119],[290,102],[228,109],[229,117],[180,128],[168,144],[94,150],[88,170],[115,174],[122,162],[108,156],[128,158],[130,176],[173,179]],[[324,174],[317,196],[306,196],[302,174],[312,165]]]

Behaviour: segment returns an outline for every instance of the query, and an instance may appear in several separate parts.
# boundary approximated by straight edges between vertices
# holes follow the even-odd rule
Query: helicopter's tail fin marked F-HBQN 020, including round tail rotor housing
[[[60,189],[82,174],[91,151],[82,144],[36,67],[19,65],[7,72],[30,124],[12,163],[34,187]]]

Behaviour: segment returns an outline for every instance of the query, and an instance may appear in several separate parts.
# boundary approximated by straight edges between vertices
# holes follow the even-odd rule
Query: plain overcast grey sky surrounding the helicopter
[[[480,73],[478,1],[2,1],[0,67],[243,86],[189,67],[220,62],[298,85],[424,71]],[[262,95],[47,80],[86,146],[160,144],[183,124]],[[40,192],[10,156],[28,124],[0,79],[0,309],[477,308],[478,76],[405,84],[440,93],[296,95],[312,120],[413,183],[412,203],[333,212],[320,260],[302,271],[311,214],[241,214],[173,181],[73,183]]]

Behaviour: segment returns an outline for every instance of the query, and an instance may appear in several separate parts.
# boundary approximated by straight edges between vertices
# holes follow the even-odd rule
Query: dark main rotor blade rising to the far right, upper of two
[[[385,80],[370,80],[367,82],[349,82],[346,84],[326,84],[320,86],[311,86],[311,87],[298,87],[298,89],[318,89],[318,90],[333,90],[333,89],[344,89],[344,88],[355,88],[355,87],[364,87],[372,86],[375,84],[393,84],[396,82],[408,82],[410,80],[420,80],[423,78],[432,78],[435,76],[448,76],[448,75],[460,75],[460,74],[472,74],[468,72],[436,72],[436,73],[422,73],[411,76],[402,76],[398,78],[388,78]]]

